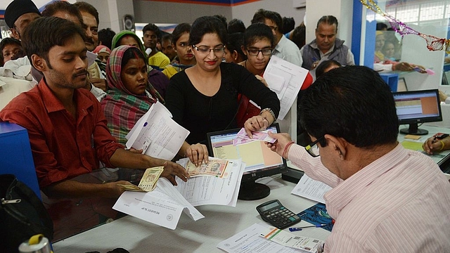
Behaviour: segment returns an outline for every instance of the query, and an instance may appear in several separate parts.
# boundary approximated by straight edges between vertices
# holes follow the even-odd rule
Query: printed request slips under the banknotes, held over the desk
[[[214,160],[214,157],[210,157],[210,163]],[[179,161],[184,166],[187,162],[187,158]],[[241,160],[228,160],[226,167],[226,176],[195,176],[187,182],[176,178],[178,186],[160,178],[155,190],[151,192],[124,192],[113,209],[165,228],[175,229],[182,211],[197,221],[205,216],[195,209],[196,206],[236,207],[245,163]]]

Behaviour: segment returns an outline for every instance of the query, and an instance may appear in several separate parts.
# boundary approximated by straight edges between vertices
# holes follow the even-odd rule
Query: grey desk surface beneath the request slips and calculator
[[[253,223],[264,222],[255,207],[263,202],[278,199],[285,207],[299,213],[316,202],[292,195],[295,184],[274,176],[274,183],[283,186],[272,188],[268,197],[262,200],[238,200],[236,207],[205,205],[197,209],[205,216],[193,221],[186,214],[181,215],[174,231],[148,223],[133,216],[125,216],[89,231],[74,235],[53,244],[58,253],[65,252],[108,252],[122,247],[132,253],[139,252],[222,252],[217,244],[243,231]],[[268,184],[270,186],[270,183]],[[301,221],[298,226],[309,223]],[[330,232],[313,228],[295,232],[311,238],[325,240]]]

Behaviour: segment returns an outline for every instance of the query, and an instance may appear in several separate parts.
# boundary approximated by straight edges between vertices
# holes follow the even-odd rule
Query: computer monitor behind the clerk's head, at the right
[[[442,121],[437,89],[401,91],[393,94],[399,124],[409,124],[409,128],[400,130],[401,134],[425,135],[428,131],[418,129],[418,123]]]

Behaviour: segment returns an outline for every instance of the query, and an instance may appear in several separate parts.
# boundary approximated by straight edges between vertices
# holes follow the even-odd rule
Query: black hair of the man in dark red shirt
[[[63,46],[77,36],[86,40],[86,32],[75,22],[58,17],[43,17],[30,22],[22,37],[22,46],[28,59],[36,54],[49,63],[49,51],[53,46]],[[36,43],[39,41],[39,43]]]

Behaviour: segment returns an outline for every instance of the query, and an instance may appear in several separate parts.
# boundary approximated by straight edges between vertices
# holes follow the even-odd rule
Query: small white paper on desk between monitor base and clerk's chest
[[[307,174],[304,174],[297,183],[297,186],[295,186],[293,191],[290,193],[325,204],[323,195],[331,189],[332,188],[325,183],[315,181],[307,176]]]

